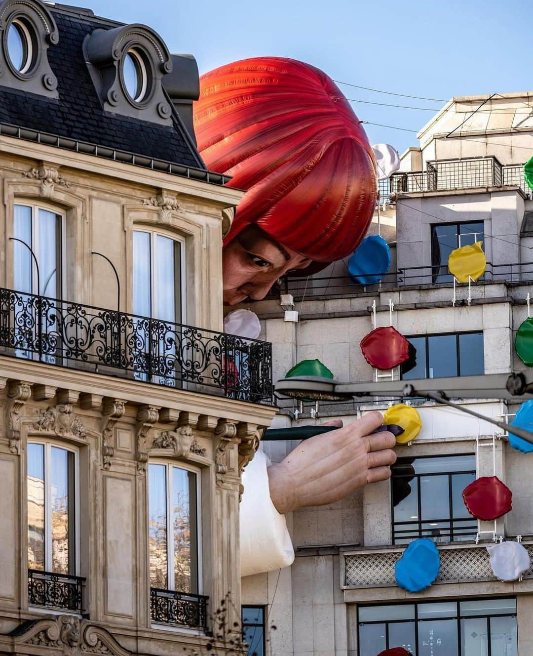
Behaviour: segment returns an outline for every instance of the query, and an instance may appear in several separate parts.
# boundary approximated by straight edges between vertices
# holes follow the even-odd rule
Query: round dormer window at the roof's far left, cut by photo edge
[[[58,98],[48,62],[59,43],[56,22],[38,0],[0,1],[0,87]]]

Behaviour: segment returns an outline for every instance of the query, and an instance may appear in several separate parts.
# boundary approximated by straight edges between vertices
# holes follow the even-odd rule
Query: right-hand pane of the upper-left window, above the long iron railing
[[[39,209],[39,277],[43,296],[61,297],[61,216]]]

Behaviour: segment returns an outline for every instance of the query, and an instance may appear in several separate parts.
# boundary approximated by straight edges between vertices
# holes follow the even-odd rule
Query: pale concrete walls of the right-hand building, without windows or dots
[[[420,147],[403,155],[401,170],[425,171],[427,162],[435,159],[490,155],[500,158],[502,165],[523,163],[529,157],[527,149],[533,138],[530,110],[524,107],[527,97],[528,94],[503,94],[487,102],[486,112],[472,117],[446,139],[446,134],[486,100],[486,96],[454,98],[418,135]],[[509,113],[513,107],[516,115]],[[512,135],[508,129],[512,129]],[[478,144],[479,140],[483,144]],[[338,263],[334,269],[330,267],[308,281],[288,281],[285,287],[282,283],[282,293],[294,294],[294,309],[300,313],[298,323],[284,321],[275,299],[249,306],[262,319],[264,338],[273,342],[275,379],[284,377],[298,361],[318,358],[342,382],[376,380],[376,370],[363,358],[359,342],[374,327],[389,323],[406,336],[483,332],[484,373],[524,369],[515,354],[514,338],[528,316],[526,298],[531,292],[533,267],[527,263],[533,258],[530,238],[521,235],[521,226],[524,213],[533,209],[533,201],[527,190],[516,185],[482,188],[458,180],[451,186],[456,188],[400,192],[393,202],[385,199],[380,215],[387,219],[387,229],[395,222],[395,234],[386,234],[395,257],[391,274],[379,285],[365,288],[351,283],[344,264]],[[373,231],[377,221],[376,215]],[[454,303],[452,283],[434,283],[431,279],[431,226],[467,221],[483,221],[483,247],[490,275],[473,283],[470,290],[468,285],[458,285]],[[413,270],[411,277],[405,275],[409,268]],[[385,375],[398,379],[400,372],[395,369]],[[513,450],[505,433],[488,422],[435,407],[427,401],[410,403],[418,409],[423,428],[412,445],[397,447],[398,457],[477,454],[477,476],[496,474],[505,482],[513,492],[513,510],[496,526],[494,522],[479,522],[479,531],[493,531],[480,533],[479,545],[474,541],[439,544],[443,562],[450,558],[454,565],[450,565],[450,572],[442,580],[418,594],[408,594],[395,584],[393,566],[405,547],[393,545],[390,482],[370,485],[330,506],[294,512],[288,517],[296,550],[292,567],[281,573],[243,579],[243,603],[264,604],[269,613],[267,624],[277,626],[274,631],[267,626],[267,653],[361,656],[357,625],[361,604],[502,596],[517,599],[518,651],[513,651],[513,646],[508,653],[526,656],[533,652],[528,619],[533,612],[533,571],[515,583],[496,581],[492,571],[483,569],[485,565],[472,573],[477,558],[488,563],[484,546],[492,544],[494,532],[506,539],[520,535],[530,550],[530,457]],[[511,419],[519,407],[498,399],[464,399],[460,403],[493,418]],[[281,401],[274,425],[296,426],[333,418],[347,423],[369,409],[385,410],[388,405],[324,402],[313,418],[310,413],[315,412],[314,404],[304,403],[300,408],[296,401],[285,400]],[[266,441],[262,448],[279,462],[295,444]],[[363,580],[366,571],[373,574]],[[425,655],[426,651],[422,652],[421,647],[417,653]],[[474,653],[478,656],[477,651],[464,651],[462,656]]]

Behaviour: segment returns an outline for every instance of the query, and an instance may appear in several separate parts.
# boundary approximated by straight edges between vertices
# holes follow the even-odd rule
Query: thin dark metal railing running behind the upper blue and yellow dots
[[[367,274],[368,276],[372,274]],[[376,276],[379,274],[375,274]],[[279,299],[281,294],[292,294],[296,300],[302,298],[334,298],[371,293],[382,289],[406,287],[408,285],[439,285],[452,283],[453,277],[446,265],[406,266],[382,275],[379,283],[361,285],[351,281],[348,274],[344,276],[284,277],[267,295],[267,299]],[[511,264],[492,264],[487,262],[486,271],[481,279],[472,283],[483,285],[492,282],[523,283],[533,281],[533,262]]]

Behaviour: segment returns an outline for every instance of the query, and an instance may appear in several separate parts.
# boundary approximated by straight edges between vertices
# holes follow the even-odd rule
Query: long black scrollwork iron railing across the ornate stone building
[[[272,401],[268,342],[2,288],[0,354],[254,403]]]

